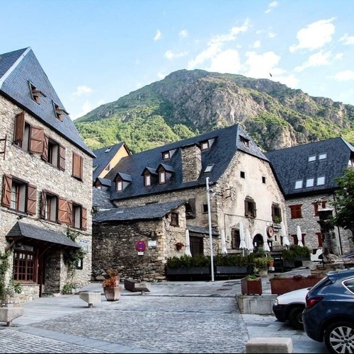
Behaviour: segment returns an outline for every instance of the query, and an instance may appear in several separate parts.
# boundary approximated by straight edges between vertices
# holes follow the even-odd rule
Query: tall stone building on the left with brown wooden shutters
[[[86,285],[95,155],[30,47],[0,55],[0,117],[0,252],[11,261],[6,284],[21,282],[21,301]],[[65,256],[80,247],[85,256],[70,272]]]

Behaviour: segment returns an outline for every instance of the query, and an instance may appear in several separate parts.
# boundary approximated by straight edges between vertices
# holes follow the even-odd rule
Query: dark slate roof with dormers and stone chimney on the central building
[[[248,147],[242,142],[242,139],[244,138],[249,140]],[[201,152],[202,172],[200,173],[200,177],[196,181],[183,183],[181,147],[200,144],[200,142],[204,142],[208,139],[215,139],[215,141],[209,150]],[[176,152],[171,156],[171,159],[162,159],[163,152],[174,149],[176,149]],[[125,156],[120,159],[118,164],[107,176],[105,176],[105,178],[113,181],[117,173],[126,173],[127,175],[132,176],[132,182],[122,192],[115,192],[115,190],[111,188],[111,200],[120,200],[165,191],[171,192],[181,188],[205,185],[206,177],[210,177],[210,182],[216,183],[222,176],[222,173],[227,169],[234,154],[238,150],[268,161],[261,149],[255,142],[253,142],[251,137],[246,134],[241,125],[232,125],[220,130],[214,130],[199,135],[198,137],[190,137],[145,152]],[[154,183],[152,186],[145,187],[144,178],[142,177],[143,171],[149,169],[149,171],[155,172],[160,164],[164,164],[165,167],[168,166],[168,171],[172,172],[171,178],[169,178],[164,184],[159,185]],[[204,173],[205,168],[209,164],[214,164],[215,166],[210,173]]]

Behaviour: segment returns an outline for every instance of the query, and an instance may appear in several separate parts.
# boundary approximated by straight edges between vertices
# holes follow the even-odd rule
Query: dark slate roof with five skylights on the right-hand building
[[[326,159],[319,160],[319,154],[325,153]],[[350,156],[354,156],[354,147],[343,138],[336,137],[268,152],[265,156],[275,170],[285,198],[289,198],[333,192],[338,186],[334,178],[343,176]],[[308,162],[309,156],[316,156],[316,161]],[[317,178],[322,176],[325,176],[325,184],[316,185]],[[307,178],[314,178],[313,187],[305,187]],[[303,188],[295,189],[298,180],[303,180]]]

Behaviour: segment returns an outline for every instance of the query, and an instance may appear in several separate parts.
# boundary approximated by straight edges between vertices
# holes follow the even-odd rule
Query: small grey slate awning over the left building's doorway
[[[16,222],[13,228],[6,235],[6,239],[11,241],[22,240],[31,246],[60,246],[80,248],[79,244],[69,239],[62,232],[52,231],[44,227],[38,227],[25,222]]]

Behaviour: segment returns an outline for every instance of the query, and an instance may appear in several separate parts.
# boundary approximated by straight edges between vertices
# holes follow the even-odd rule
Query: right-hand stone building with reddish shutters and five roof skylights
[[[289,147],[265,154],[268,157],[285,195],[287,226],[292,244],[298,244],[300,227],[302,244],[316,251],[322,249],[323,240],[319,224],[319,210],[331,206],[338,187],[335,178],[353,168],[354,147],[341,137],[321,142]],[[338,255],[353,253],[352,233],[334,228],[335,250]]]

